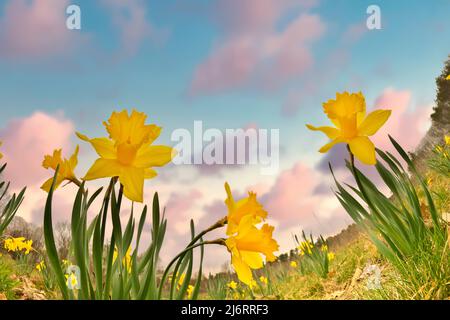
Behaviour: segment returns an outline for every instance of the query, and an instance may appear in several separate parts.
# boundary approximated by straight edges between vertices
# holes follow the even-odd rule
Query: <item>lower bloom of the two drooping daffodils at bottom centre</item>
[[[272,238],[273,227],[264,224],[261,229],[254,225],[254,217],[244,216],[237,228],[236,235],[230,236],[225,244],[231,253],[231,264],[240,281],[250,286],[253,276],[251,269],[263,267],[264,254],[267,261],[275,261],[274,251],[278,243]]]

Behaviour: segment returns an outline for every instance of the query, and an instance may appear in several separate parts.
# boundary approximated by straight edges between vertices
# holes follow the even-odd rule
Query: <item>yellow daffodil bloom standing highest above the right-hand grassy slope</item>
[[[324,113],[335,127],[306,126],[313,131],[322,131],[331,142],[320,148],[328,152],[335,144],[347,143],[351,153],[362,163],[374,165],[375,146],[368,138],[374,135],[387,121],[391,110],[375,110],[366,115],[366,102],[362,93],[336,93],[336,100],[323,104]]]

